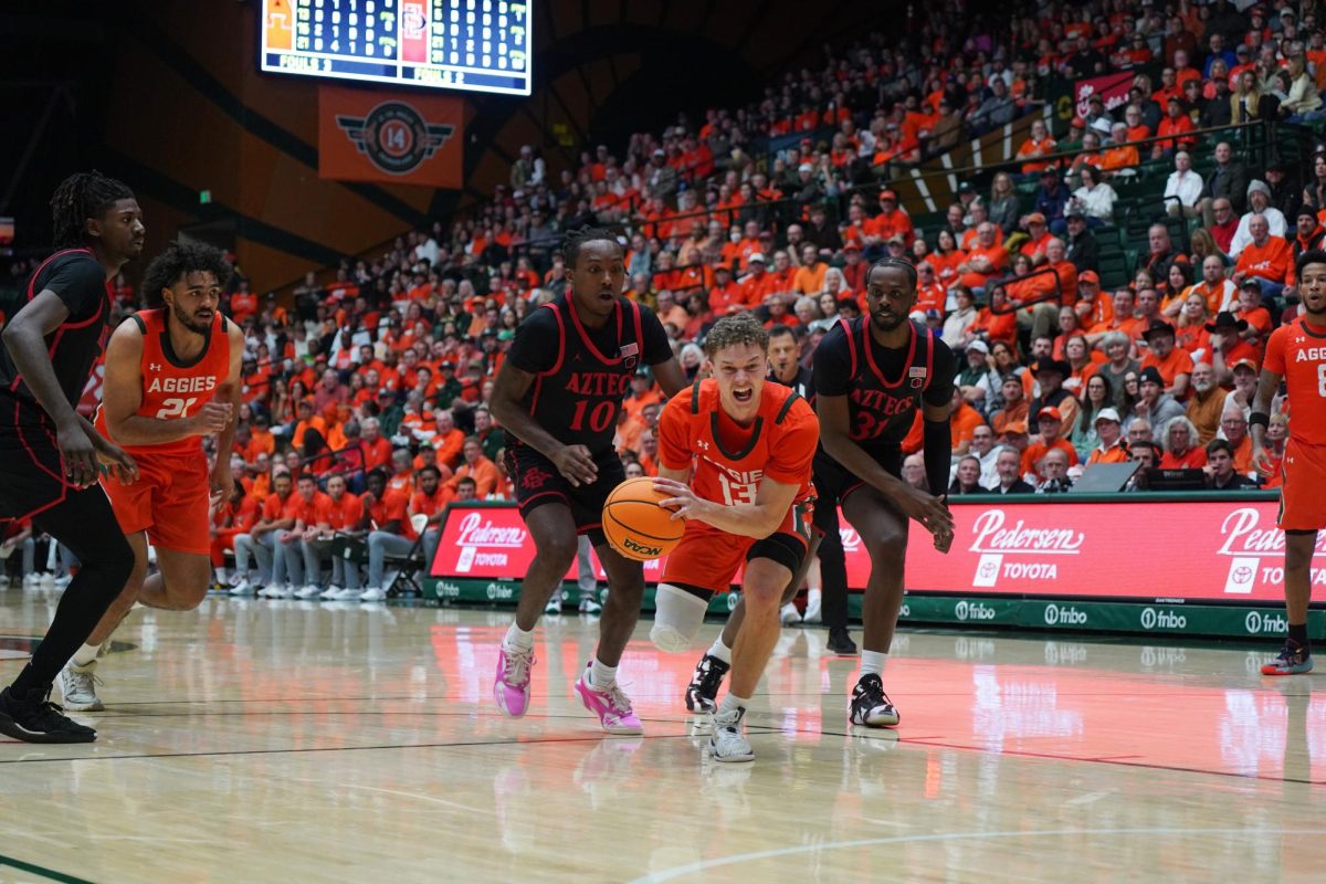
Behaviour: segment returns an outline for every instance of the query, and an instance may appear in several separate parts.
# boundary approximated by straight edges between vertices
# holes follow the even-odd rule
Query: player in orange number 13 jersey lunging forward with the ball
[[[752,761],[745,710],[778,640],[778,608],[801,582],[810,549],[814,410],[794,390],[766,384],[769,334],[749,313],[724,317],[704,339],[712,374],[676,394],[659,416],[659,477],[686,535],[668,557],[650,637],[684,651],[709,599],[744,567],[745,619],[732,647],[732,681],[713,713],[715,761]]]

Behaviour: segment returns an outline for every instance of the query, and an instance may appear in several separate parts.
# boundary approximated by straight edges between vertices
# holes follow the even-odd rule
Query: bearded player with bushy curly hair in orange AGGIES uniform
[[[219,249],[172,243],[143,273],[154,309],[125,319],[106,345],[106,375],[95,427],[133,452],[139,480],[103,477],[115,520],[134,549],[123,592],[65,669],[65,709],[102,708],[93,687],[97,655],[134,602],[191,611],[211,582],[210,505],[235,486],[235,443],[244,338],[217,311],[229,265]],[[202,436],[217,433],[223,452],[208,474]],[[147,543],[156,573],[147,575]]]

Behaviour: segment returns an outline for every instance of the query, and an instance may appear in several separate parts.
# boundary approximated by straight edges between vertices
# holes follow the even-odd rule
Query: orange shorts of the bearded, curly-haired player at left
[[[138,481],[113,476],[101,484],[125,534],[147,531],[152,546],[179,553],[211,551],[207,459],[196,455],[134,455]]]

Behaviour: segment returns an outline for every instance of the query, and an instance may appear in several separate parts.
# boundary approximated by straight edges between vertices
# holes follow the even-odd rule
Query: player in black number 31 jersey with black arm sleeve
[[[819,443],[815,490],[821,509],[843,516],[870,553],[861,677],[851,696],[854,725],[898,724],[883,687],[884,661],[903,600],[908,520],[948,551],[953,518],[944,502],[952,437],[949,404],[957,371],[953,353],[923,325],[907,318],[916,304],[916,270],[883,258],[866,274],[869,317],[835,326],[814,357]],[[926,477],[931,493],[899,478],[902,441],[920,408]]]

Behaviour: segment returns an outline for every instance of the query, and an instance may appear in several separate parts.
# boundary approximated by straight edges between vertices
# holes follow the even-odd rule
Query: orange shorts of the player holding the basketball
[[[777,530],[764,539],[728,534],[703,522],[687,522],[686,534],[663,566],[662,583],[727,592],[737,570],[756,558],[769,558],[793,574],[810,545],[810,504],[794,504]]]

